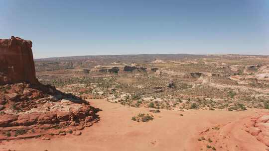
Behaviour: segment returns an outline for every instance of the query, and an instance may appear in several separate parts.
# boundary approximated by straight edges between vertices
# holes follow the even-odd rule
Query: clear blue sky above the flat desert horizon
[[[269,55],[269,0],[0,0],[0,38],[11,35],[34,58]]]

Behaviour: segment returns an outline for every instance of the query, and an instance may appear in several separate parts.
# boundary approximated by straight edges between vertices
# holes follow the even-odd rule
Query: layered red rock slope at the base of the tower
[[[0,100],[0,141],[75,132],[99,121],[87,101],[50,85],[0,85]]]

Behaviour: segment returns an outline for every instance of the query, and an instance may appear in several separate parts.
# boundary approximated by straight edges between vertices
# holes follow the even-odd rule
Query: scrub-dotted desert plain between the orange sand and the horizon
[[[260,64],[260,60],[249,61],[248,57],[241,57],[234,61],[233,56],[203,57],[168,61],[162,64],[144,63],[144,59],[138,59],[135,61],[136,66],[146,70],[135,69],[132,72],[121,69],[122,64],[130,63],[126,59],[118,66],[120,69],[117,73],[106,72],[106,70],[101,72],[89,70],[90,72],[87,74],[77,73],[77,70],[73,70],[73,68],[78,67],[74,67],[72,64],[72,67],[64,70],[56,70],[59,67],[55,67],[52,71],[40,71],[37,75],[44,84],[52,84],[84,98],[107,98],[110,102],[132,107],[229,111],[269,108],[269,92],[259,92],[261,88],[269,89],[269,80],[247,78],[234,80],[231,78],[234,75],[256,76],[261,72],[259,70],[261,66],[249,71],[245,67],[250,64]],[[113,59],[102,63],[97,60],[95,66],[100,65],[100,67],[98,66],[100,69],[103,65],[104,67],[114,67],[111,64],[113,62]],[[268,60],[264,60],[263,64],[266,62],[269,63]],[[81,63],[79,64],[81,65]],[[59,66],[59,64],[50,64],[50,66],[52,65]],[[83,67],[94,68],[93,66],[87,67],[87,65],[83,65]],[[37,68],[39,68],[39,64],[37,64]],[[248,84],[242,84],[240,80]],[[2,91],[6,89],[8,87],[1,88]]]

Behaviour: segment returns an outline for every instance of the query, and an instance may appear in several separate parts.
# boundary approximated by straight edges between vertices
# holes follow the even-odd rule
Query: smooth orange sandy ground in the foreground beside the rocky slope
[[[148,108],[133,108],[105,100],[90,100],[101,109],[101,120],[82,131],[81,136],[68,134],[44,141],[41,138],[2,141],[0,151],[266,151],[267,147],[244,130],[244,122],[266,110],[241,112],[190,110],[185,112],[160,110],[150,113]],[[154,120],[138,123],[131,118],[138,113],[150,113]],[[183,114],[183,116],[180,116]],[[220,130],[212,131],[219,126]],[[199,132],[209,128],[207,133]]]

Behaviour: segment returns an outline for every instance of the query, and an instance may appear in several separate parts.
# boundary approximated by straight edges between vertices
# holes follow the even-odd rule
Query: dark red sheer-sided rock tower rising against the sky
[[[0,84],[37,83],[32,42],[19,37],[0,39]]]

